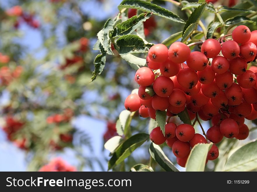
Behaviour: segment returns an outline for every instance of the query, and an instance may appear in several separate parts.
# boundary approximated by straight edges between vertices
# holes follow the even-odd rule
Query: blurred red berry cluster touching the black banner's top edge
[[[50,171],[50,172],[58,172],[58,171],[74,172],[74,171],[76,171],[76,167],[67,164],[67,162],[65,162],[61,158],[55,158],[51,162],[49,162],[47,165],[44,165],[43,167],[41,167],[39,169],[39,171],[40,172],[48,172],[48,171]]]

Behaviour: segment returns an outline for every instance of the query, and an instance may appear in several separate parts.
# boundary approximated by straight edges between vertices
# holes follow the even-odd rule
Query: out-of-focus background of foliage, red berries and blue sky
[[[75,154],[77,162],[74,165],[79,171],[85,167],[87,170],[107,170],[108,152],[104,151],[103,143],[96,144],[94,138],[101,137],[104,142],[117,135],[115,122],[124,110],[123,102],[131,90],[138,88],[133,82],[137,68],[128,65],[113,50],[114,56],[107,57],[102,74],[89,82],[94,70],[93,60],[98,53],[92,50],[96,34],[109,17],[117,15],[120,2],[0,1],[0,110],[1,127],[6,135],[3,140],[12,142],[26,153],[27,170],[39,170],[65,148]],[[153,3],[187,20],[185,12],[169,2]],[[226,1],[218,2],[222,3]],[[206,13],[204,17],[207,26],[208,17],[213,15]],[[157,16],[152,18],[151,23],[145,25],[148,42],[162,42],[183,30],[179,23]],[[254,30],[256,26],[250,26],[250,29]],[[26,37],[28,30],[32,30],[30,37]],[[146,57],[145,54],[141,56]],[[91,121],[82,121],[80,117],[104,122],[105,134],[100,135],[100,127]],[[179,123],[176,117],[173,121]],[[77,129],[74,122],[82,129]],[[209,126],[208,122],[205,126]],[[148,121],[136,114],[131,128],[133,133],[148,132]],[[94,130],[93,137],[88,134],[88,129]],[[114,171],[129,170],[136,163],[147,164],[148,145],[149,142],[137,149],[138,152],[126,160],[126,165],[121,164]],[[101,158],[90,155],[96,147],[103,150]],[[163,150],[176,161],[168,147]],[[94,163],[100,168],[95,169]],[[213,167],[210,165],[209,170]],[[162,169],[157,166],[155,170]]]

